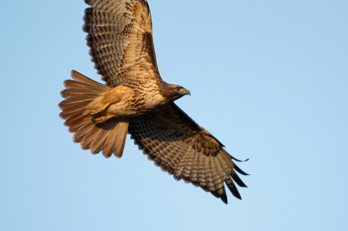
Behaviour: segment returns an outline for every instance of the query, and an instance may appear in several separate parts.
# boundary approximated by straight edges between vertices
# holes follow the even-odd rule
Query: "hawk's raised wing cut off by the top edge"
[[[146,0],[85,0],[84,26],[89,54],[106,85],[161,79]]]

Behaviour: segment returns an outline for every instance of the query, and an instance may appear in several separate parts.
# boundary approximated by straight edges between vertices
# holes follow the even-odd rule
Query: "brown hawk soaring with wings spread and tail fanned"
[[[73,142],[92,154],[120,158],[126,135],[161,170],[228,203],[225,185],[247,187],[242,171],[211,133],[174,101],[191,92],[162,80],[147,0],[85,0],[82,30],[89,55],[105,84],[71,71],[58,104]]]

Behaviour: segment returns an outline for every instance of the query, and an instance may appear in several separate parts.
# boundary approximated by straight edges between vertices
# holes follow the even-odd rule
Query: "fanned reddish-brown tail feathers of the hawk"
[[[65,80],[65,90],[61,96],[65,98],[58,107],[63,111],[59,117],[65,119],[69,132],[74,132],[73,141],[80,142],[82,149],[89,149],[92,154],[102,151],[105,157],[112,153],[121,157],[128,131],[128,119],[110,120],[106,124],[94,125],[91,116],[84,116],[87,105],[101,93],[110,90],[88,77],[71,71],[73,80]]]

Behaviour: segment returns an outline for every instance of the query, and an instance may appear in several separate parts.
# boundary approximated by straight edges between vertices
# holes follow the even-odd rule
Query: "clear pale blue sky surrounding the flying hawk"
[[[0,230],[346,230],[348,1],[148,0],[162,78],[239,159],[229,204],[129,137],[91,155],[58,117],[75,69],[100,81],[76,1],[4,1]]]

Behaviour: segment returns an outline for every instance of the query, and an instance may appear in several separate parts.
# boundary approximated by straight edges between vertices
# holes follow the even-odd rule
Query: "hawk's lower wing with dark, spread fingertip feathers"
[[[232,161],[223,145],[196,124],[174,102],[149,115],[131,118],[128,133],[162,170],[211,192],[227,204],[224,182],[241,199],[232,179],[246,187],[235,170],[247,175]],[[239,160],[237,160],[239,161]]]

